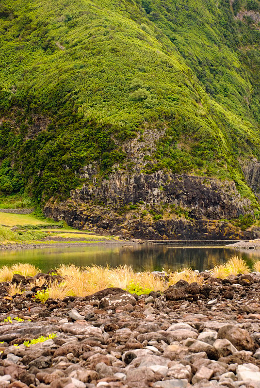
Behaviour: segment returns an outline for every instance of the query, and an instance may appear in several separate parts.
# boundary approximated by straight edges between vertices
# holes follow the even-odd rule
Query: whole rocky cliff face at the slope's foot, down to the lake
[[[159,171],[93,178],[67,201],[49,201],[44,211],[74,227],[125,237],[212,240],[255,237],[228,221],[249,209],[234,182]]]

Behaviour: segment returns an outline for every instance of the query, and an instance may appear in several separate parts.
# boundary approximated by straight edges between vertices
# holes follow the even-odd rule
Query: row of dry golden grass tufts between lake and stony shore
[[[260,261],[255,263],[255,269],[260,271]],[[10,281],[14,273],[24,276],[34,276],[39,272],[31,264],[15,264],[13,266],[3,266],[0,269],[0,281]],[[237,275],[239,273],[247,274],[249,268],[243,259],[233,257],[226,264],[221,264],[213,268],[211,275],[214,277],[225,278],[228,275]],[[169,282],[164,281],[159,276],[150,272],[133,271],[131,266],[120,265],[117,268],[101,267],[98,265],[88,266],[83,269],[70,265],[60,265],[57,273],[64,278],[62,283],[57,280],[48,283],[49,297],[63,299],[66,295],[87,296],[94,292],[108,287],[119,287],[124,290],[133,289],[134,285],[146,290],[164,291],[179,280],[185,280],[189,284],[197,282],[202,284],[203,277],[194,272],[191,268],[184,268],[179,272],[169,273]],[[31,287],[41,287],[45,279],[39,278],[30,283]],[[19,293],[21,290],[16,285],[10,286],[10,293]]]

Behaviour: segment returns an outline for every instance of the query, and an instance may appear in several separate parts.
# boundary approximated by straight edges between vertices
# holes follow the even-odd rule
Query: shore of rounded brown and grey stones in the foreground
[[[24,293],[0,285],[0,388],[260,387],[260,273],[201,275],[163,294],[110,288],[45,304],[15,275]]]

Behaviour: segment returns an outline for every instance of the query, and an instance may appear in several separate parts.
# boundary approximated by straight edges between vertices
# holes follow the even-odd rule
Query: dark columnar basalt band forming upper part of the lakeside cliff
[[[249,205],[248,200],[241,199],[234,182],[162,171],[152,175],[116,173],[100,185],[83,185],[70,195],[79,203],[95,199],[115,209],[139,201],[150,205],[175,204],[189,210],[192,218],[208,219],[236,218],[244,214],[244,205]]]

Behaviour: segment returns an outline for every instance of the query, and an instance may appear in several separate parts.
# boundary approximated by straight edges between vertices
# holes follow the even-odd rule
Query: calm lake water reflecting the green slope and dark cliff
[[[0,251],[0,266],[23,262],[36,265],[42,271],[49,271],[61,263],[73,263],[78,266],[108,264],[111,267],[127,264],[136,271],[162,271],[162,268],[176,271],[184,267],[203,271],[225,263],[234,255],[245,259],[252,268],[253,262],[260,259],[260,250],[239,251],[218,247],[176,247],[161,244],[127,246],[126,243],[50,247]]]

